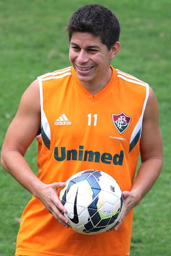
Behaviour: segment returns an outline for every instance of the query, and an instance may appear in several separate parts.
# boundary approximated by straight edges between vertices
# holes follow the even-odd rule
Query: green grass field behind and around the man
[[[70,65],[64,27],[72,12],[87,3],[101,3],[115,12],[121,24],[121,50],[112,64],[148,82],[158,99],[164,166],[153,189],[135,208],[131,255],[169,256],[170,0],[0,0],[0,147],[22,93],[32,80]],[[36,142],[26,158],[37,172]],[[19,218],[31,195],[2,168],[0,194],[0,256],[12,256]]]

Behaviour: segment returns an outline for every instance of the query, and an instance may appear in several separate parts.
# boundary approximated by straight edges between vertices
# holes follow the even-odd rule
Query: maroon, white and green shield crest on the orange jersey
[[[112,114],[113,124],[115,125],[119,133],[123,133],[129,126],[132,116],[125,115],[124,112],[121,112],[118,115]]]

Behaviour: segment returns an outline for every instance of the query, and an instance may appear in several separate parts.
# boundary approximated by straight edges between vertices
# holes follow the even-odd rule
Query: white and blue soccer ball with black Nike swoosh
[[[59,199],[72,229],[99,234],[116,224],[123,210],[123,196],[114,178],[101,170],[83,170],[66,181]]]

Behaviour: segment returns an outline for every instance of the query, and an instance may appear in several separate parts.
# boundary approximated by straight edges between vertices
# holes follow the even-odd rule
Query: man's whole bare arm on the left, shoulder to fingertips
[[[66,212],[66,209],[57,196],[57,190],[65,185],[64,182],[44,184],[32,172],[24,158],[27,148],[39,130],[40,96],[38,81],[35,80],[23,94],[17,114],[7,130],[2,147],[1,164],[15,180],[43,202],[56,220],[66,225],[67,219],[60,213],[60,210]]]

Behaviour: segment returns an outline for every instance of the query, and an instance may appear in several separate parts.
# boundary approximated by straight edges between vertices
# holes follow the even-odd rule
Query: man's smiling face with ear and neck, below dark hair
[[[113,48],[113,47],[112,47]],[[111,79],[109,64],[113,59],[113,49],[101,43],[100,36],[87,32],[74,32],[70,42],[70,62],[76,71],[80,83],[101,84]]]

